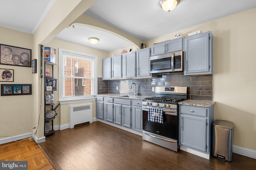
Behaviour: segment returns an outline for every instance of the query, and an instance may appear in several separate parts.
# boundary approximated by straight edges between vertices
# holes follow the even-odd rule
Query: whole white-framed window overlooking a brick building
[[[59,49],[59,100],[83,100],[97,93],[97,57]]]

